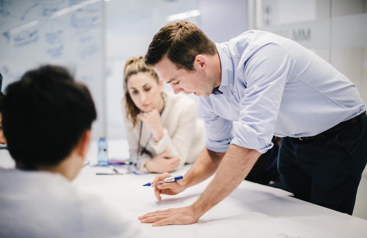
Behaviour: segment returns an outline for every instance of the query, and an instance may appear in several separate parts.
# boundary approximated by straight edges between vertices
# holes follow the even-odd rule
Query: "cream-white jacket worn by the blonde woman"
[[[146,171],[145,163],[152,157],[170,151],[169,157],[179,157],[181,166],[185,163],[193,163],[199,153],[204,149],[205,130],[201,119],[197,118],[196,103],[186,95],[175,95],[165,92],[166,102],[161,115],[162,126],[165,133],[162,139],[155,142],[152,134],[146,126],[142,127],[140,146],[145,147],[148,153],[144,153],[138,159],[138,169]],[[126,118],[124,102],[122,113],[125,120],[127,140],[129,143],[130,159],[135,161],[138,156],[138,140],[140,123],[133,127],[132,122]],[[149,155],[149,153],[151,155]]]

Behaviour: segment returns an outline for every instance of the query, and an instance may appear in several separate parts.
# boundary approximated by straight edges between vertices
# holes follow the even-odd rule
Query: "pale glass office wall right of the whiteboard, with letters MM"
[[[199,15],[214,42],[249,29],[291,38],[330,62],[356,84],[367,102],[366,0],[109,0],[106,2],[107,135],[124,137],[120,102],[127,58],[144,55],[153,35],[177,13]],[[195,15],[195,14],[193,14]],[[305,99],[306,100],[306,99]]]

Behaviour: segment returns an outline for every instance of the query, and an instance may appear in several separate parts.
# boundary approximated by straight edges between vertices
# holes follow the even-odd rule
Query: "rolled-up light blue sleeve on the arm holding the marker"
[[[226,152],[233,138],[232,121],[216,115],[208,98],[199,98],[199,112],[204,120],[206,148]]]

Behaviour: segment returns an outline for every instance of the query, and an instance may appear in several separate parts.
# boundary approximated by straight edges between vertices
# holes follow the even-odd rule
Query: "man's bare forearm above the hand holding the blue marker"
[[[185,187],[195,185],[212,176],[217,170],[224,155],[225,153],[217,153],[205,148],[185,174]]]

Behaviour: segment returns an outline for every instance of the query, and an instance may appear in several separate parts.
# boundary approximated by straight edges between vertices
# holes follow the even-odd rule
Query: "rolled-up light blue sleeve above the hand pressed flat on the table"
[[[231,144],[265,153],[273,146],[285,83],[295,62],[282,47],[260,48],[245,62],[245,97],[240,102],[239,120],[233,122]]]

